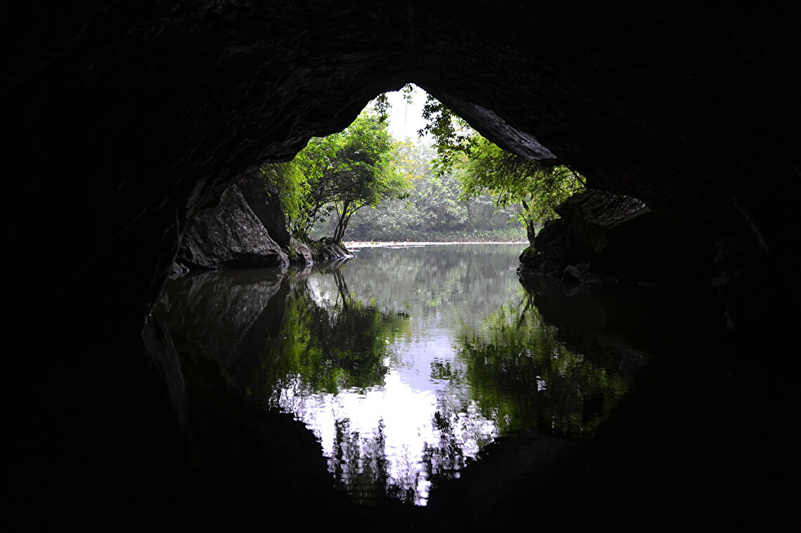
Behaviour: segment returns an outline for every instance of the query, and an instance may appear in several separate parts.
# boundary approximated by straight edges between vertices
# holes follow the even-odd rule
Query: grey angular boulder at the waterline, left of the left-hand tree
[[[237,185],[223,192],[218,205],[191,219],[176,260],[201,269],[288,264]]]

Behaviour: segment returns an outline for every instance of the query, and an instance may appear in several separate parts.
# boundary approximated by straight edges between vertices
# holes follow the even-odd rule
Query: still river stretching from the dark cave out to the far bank
[[[591,439],[654,355],[703,349],[687,340],[691,311],[671,311],[669,293],[547,280],[523,287],[520,251],[519,244],[370,247],[305,270],[185,275],[164,288],[151,319],[159,333],[146,343],[189,433],[205,435],[209,419],[224,420],[216,423],[224,429],[211,431],[228,435],[214,437],[225,441],[216,451],[208,451],[213,439],[195,436],[206,455],[199,460],[222,460],[218,448],[240,431],[229,420],[279,413],[305,434],[289,432],[293,443],[276,431],[283,443],[273,445],[260,430],[243,463],[258,446],[264,455],[308,455],[313,441],[311,463],[324,464],[356,507],[439,501],[456,511],[479,486],[489,505],[486,491],[500,486],[497,479],[511,487],[553,471],[560,455]],[[214,400],[223,397],[228,407]],[[247,466],[225,467],[239,468]],[[297,471],[285,475],[273,481],[276,494],[282,484],[294,490],[290,478],[311,483]],[[439,487],[448,488],[437,500]]]

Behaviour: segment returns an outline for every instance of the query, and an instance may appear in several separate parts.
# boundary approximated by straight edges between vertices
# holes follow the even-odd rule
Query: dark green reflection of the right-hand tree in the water
[[[530,426],[562,435],[593,431],[626,392],[618,375],[569,351],[536,307],[500,307],[489,335],[463,331],[457,356],[481,411],[501,431]]]

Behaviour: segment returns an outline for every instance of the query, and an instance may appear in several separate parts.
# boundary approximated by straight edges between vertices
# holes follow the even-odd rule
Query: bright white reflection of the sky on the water
[[[351,431],[363,437],[374,435],[379,422],[384,422],[384,439],[388,477],[404,489],[404,480],[417,479],[415,503],[425,505],[430,482],[425,479],[422,459],[425,444],[436,445],[440,433],[432,425],[437,407],[453,404],[452,384],[447,379],[432,379],[431,363],[455,366],[449,331],[433,330],[413,335],[412,339],[389,341],[392,355],[384,360],[390,369],[384,386],[367,391],[347,390],[338,395],[316,394],[303,397],[294,391],[281,392],[280,406],[292,411],[312,431],[329,459],[336,446],[336,421],[350,420]],[[454,436],[465,457],[474,459],[482,441],[497,436],[495,424],[485,419],[474,405],[461,406],[445,415],[456,419]]]

